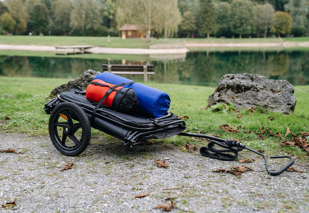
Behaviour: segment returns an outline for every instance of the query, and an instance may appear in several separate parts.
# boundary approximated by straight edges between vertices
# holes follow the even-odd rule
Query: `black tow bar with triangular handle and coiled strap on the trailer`
[[[260,152],[257,152],[251,148],[246,147],[246,145],[243,145],[242,143],[239,143],[236,140],[231,140],[231,139],[222,139],[222,138],[217,138],[209,135],[200,135],[200,134],[192,134],[192,133],[179,133],[178,135],[180,136],[188,136],[188,137],[198,137],[198,138],[207,138],[209,139],[209,143],[207,147],[201,147],[200,153],[202,156],[205,157],[211,157],[215,158],[218,160],[223,160],[223,161],[233,161],[235,158],[238,156],[238,152],[242,151],[243,149],[248,149],[251,152],[254,152],[258,155],[261,155],[264,157],[265,161],[265,167],[266,171],[273,176],[279,175],[282,172],[286,171],[291,165],[294,164],[294,158],[290,156],[272,156],[270,158],[290,158],[290,162],[286,164],[284,167],[279,169],[278,171],[271,172],[268,169],[268,164],[267,164],[267,159],[266,156]],[[218,149],[215,147],[215,145],[220,146],[225,149]],[[231,153],[231,154],[229,154]]]

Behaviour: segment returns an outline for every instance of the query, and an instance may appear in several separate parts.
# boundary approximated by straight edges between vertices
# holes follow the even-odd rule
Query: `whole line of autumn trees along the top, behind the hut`
[[[0,34],[154,37],[309,35],[307,0],[4,0]]]

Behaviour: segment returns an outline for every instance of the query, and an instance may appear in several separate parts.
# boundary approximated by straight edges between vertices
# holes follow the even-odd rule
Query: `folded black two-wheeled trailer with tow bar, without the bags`
[[[126,115],[100,107],[95,112],[95,118],[90,122],[95,105],[96,103],[87,100],[84,93],[74,92],[63,92],[57,98],[45,103],[44,111],[46,114],[50,114],[49,135],[59,152],[67,156],[76,156],[82,153],[89,144],[91,127],[93,127],[123,140],[126,148],[142,144],[147,139],[161,139],[179,135],[208,139],[208,146],[200,149],[201,154],[219,160],[235,160],[239,151],[247,149],[264,157],[266,170],[273,176],[286,171],[294,163],[294,158],[290,156],[273,156],[270,158],[289,158],[290,162],[278,171],[270,171],[264,154],[235,140],[185,133],[183,131],[186,124],[171,112],[167,112],[166,115],[159,118],[147,119],[144,116]],[[60,119],[63,122],[59,122]],[[137,121],[135,122],[135,120]],[[61,129],[60,135],[59,128]],[[80,131],[79,139],[75,136],[78,131]],[[74,142],[73,145],[66,144],[67,138]],[[222,148],[225,149],[222,150]]]

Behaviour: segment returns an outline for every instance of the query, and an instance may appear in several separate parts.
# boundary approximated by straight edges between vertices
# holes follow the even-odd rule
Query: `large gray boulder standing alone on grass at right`
[[[273,112],[291,114],[295,109],[294,87],[286,80],[268,80],[257,74],[226,74],[208,98],[214,103],[233,103],[236,109],[262,106]]]

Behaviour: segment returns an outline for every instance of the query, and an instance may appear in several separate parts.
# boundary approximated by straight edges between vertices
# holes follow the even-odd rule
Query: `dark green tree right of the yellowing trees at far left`
[[[33,29],[34,35],[38,31],[41,35],[43,31],[47,30],[49,23],[47,6],[43,3],[35,4],[33,10],[29,12],[30,18],[28,26]]]

